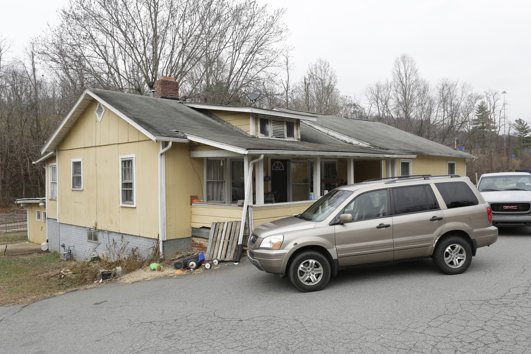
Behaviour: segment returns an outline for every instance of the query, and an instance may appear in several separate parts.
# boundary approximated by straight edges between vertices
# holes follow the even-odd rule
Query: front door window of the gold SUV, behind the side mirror
[[[350,202],[342,214],[351,214],[352,220],[386,217],[388,213],[387,189],[358,195]]]

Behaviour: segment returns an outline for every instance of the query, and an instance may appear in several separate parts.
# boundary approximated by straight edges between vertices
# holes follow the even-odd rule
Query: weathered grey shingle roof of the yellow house
[[[416,154],[472,157],[381,123],[322,115],[316,115],[318,117],[316,122],[309,122],[309,125],[301,124],[300,141],[263,139],[252,136],[203,109],[189,107],[182,101],[99,89],[85,90],[83,96],[57,128],[52,139],[42,149],[42,153],[55,150],[55,146],[92,100],[100,101],[155,141],[187,139],[207,144],[210,142],[238,153],[277,151],[298,154],[337,153],[338,156],[370,154],[378,155],[380,158]],[[275,111],[275,115],[278,115],[278,110]],[[355,140],[369,144],[346,142],[340,137],[327,134],[321,127],[342,132]]]

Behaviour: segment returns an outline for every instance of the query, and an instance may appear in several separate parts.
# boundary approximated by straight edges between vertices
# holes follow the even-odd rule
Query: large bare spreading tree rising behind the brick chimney
[[[253,1],[71,0],[41,51],[78,89],[145,94],[167,75],[182,97],[235,103],[274,76],[287,33],[283,13]]]

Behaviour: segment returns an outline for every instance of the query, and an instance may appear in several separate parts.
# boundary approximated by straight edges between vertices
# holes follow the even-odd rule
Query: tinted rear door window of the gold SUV
[[[439,209],[430,186],[392,188],[395,214],[415,213]]]

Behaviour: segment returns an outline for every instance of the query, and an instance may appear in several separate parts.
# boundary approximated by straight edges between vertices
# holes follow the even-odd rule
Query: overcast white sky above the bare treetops
[[[435,85],[447,77],[478,92],[507,91],[507,118],[531,122],[531,1],[260,0],[286,7],[298,80],[317,58],[330,62],[343,94],[391,77],[402,53]],[[20,55],[30,37],[56,23],[67,0],[3,2],[0,35]]]

